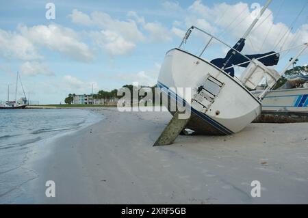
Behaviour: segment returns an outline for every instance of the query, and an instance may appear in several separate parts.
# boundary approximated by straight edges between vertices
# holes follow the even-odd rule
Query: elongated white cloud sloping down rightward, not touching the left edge
[[[47,47],[81,62],[89,62],[94,58],[88,45],[79,41],[78,34],[70,28],[60,25],[20,26],[21,35],[33,44]]]

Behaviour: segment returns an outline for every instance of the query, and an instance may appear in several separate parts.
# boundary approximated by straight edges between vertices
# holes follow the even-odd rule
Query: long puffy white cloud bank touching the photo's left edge
[[[60,25],[19,25],[17,31],[0,29],[0,57],[34,61],[43,59],[38,54],[39,47],[57,51],[81,62],[94,58],[88,45],[79,40],[73,29]]]

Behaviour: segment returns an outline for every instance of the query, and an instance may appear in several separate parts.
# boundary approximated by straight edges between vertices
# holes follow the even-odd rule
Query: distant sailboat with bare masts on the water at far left
[[[24,98],[17,100],[17,87],[18,87],[18,79],[21,81],[21,77],[17,72],[16,77],[16,89],[15,89],[15,100],[10,100],[10,85],[8,85],[8,100],[0,105],[0,109],[25,109],[27,107],[27,97],[25,96],[25,91],[23,90]],[[23,89],[23,83],[21,82],[21,87]]]

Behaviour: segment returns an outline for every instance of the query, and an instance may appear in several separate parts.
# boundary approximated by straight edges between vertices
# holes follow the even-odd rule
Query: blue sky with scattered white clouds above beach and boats
[[[307,0],[273,0],[246,40],[244,53],[281,51],[308,42]],[[47,19],[47,3],[55,18]],[[90,94],[138,82],[154,85],[166,51],[192,25],[235,44],[252,23],[259,1],[2,1],[0,100],[14,100],[16,72],[34,103],[64,103],[69,93]],[[50,17],[49,17],[50,18]],[[193,38],[195,37],[195,38]],[[197,43],[198,42],[198,43]],[[200,43],[199,43],[200,42]],[[205,38],[192,36],[191,49]],[[190,49],[187,45],[185,49]],[[214,44],[209,56],[227,48]],[[297,49],[298,50],[298,49]],[[297,51],[281,53],[281,70]],[[205,54],[206,57],[207,54]],[[308,64],[305,51],[298,65]],[[18,98],[23,96],[18,86]]]

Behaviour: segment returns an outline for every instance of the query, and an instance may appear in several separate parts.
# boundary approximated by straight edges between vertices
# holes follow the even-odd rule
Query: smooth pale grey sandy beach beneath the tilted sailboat
[[[307,123],[250,124],[236,135],[179,136],[153,147],[168,112],[94,109],[105,118],[29,155],[38,177],[16,202],[307,204]],[[55,182],[46,197],[45,182]],[[261,197],[251,182],[261,182]]]

